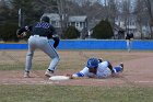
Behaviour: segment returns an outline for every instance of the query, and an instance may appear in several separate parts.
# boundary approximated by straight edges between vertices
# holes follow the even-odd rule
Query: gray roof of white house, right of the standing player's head
[[[86,18],[86,15],[69,16],[69,22],[84,22]]]

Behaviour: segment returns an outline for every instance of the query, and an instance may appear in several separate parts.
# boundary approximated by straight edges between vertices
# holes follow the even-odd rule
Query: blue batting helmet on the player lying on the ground
[[[97,58],[94,58],[94,57],[92,57],[92,58],[89,58],[89,60],[87,60],[87,64],[86,64],[86,67],[87,68],[97,68],[98,67],[98,59]]]

